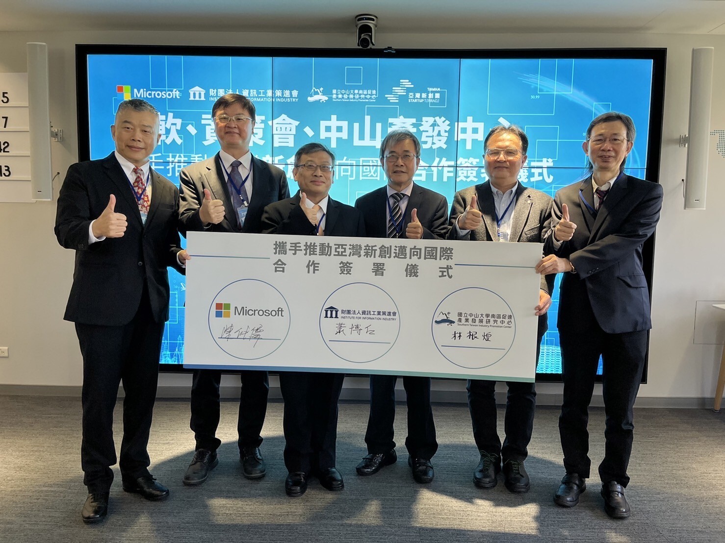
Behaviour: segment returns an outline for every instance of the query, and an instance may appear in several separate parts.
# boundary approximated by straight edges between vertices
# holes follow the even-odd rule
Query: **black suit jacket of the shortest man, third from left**
[[[315,235],[315,227],[299,206],[299,191],[292,198],[270,203],[262,213],[263,234]],[[325,218],[326,236],[365,237],[360,211],[329,198]]]

